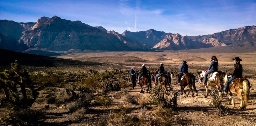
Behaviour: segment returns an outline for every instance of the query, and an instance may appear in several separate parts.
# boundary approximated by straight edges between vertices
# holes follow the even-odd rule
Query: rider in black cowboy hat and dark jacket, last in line
[[[232,75],[232,77],[228,77],[227,81],[226,81],[226,86],[225,86],[225,93],[226,95],[228,94],[228,90],[229,90],[229,83],[234,80],[235,78],[242,78],[242,65],[240,64],[240,61],[242,61],[242,59],[240,59],[239,57],[235,57],[234,60],[234,68],[233,68],[233,72],[228,73],[227,75]]]

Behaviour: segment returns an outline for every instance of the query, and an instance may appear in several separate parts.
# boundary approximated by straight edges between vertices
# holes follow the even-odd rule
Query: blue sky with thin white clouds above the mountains
[[[256,25],[256,0],[0,0],[0,19],[36,22],[43,16],[119,34],[155,29],[196,36]]]

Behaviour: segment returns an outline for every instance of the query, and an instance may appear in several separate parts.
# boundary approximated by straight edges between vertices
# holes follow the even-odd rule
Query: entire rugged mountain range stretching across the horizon
[[[180,50],[209,47],[255,48],[256,26],[244,26],[211,35],[182,36],[150,29],[119,34],[102,26],[90,26],[57,16],[36,23],[0,20],[0,48],[17,52],[32,50]]]

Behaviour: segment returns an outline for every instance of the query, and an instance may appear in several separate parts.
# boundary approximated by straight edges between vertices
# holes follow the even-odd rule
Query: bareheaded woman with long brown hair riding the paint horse
[[[217,70],[218,71],[218,59],[217,57],[214,55],[212,56],[212,60],[210,62],[208,71],[204,74],[204,85],[207,85],[207,78],[208,78],[208,74],[210,74],[213,70]]]

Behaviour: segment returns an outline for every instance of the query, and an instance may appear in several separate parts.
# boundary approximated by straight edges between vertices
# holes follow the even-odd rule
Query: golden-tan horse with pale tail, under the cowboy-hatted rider
[[[224,83],[227,81],[227,75],[225,75]],[[236,78],[229,84],[229,99],[232,98],[232,106],[235,107],[235,100],[233,98],[233,93],[236,93],[240,98],[240,109],[245,110],[249,101],[250,96],[250,82],[246,78]],[[244,97],[242,97],[242,93],[244,93]]]

